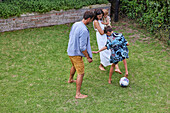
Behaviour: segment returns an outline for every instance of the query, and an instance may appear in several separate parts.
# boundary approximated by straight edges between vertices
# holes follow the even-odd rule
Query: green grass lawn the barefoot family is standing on
[[[113,73],[110,85],[110,67],[100,71],[99,54],[93,54],[92,63],[84,59],[81,92],[88,98],[75,99],[76,84],[67,83],[71,62],[66,50],[71,25],[0,33],[1,113],[170,111],[169,47],[126,20],[115,23],[113,28],[130,43],[129,86],[119,85],[125,73],[123,62],[119,63],[123,74]],[[88,28],[92,50],[97,50],[92,24]]]

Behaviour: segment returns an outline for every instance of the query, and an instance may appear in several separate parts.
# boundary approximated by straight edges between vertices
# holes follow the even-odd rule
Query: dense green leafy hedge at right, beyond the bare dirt
[[[129,18],[136,19],[142,27],[146,27],[152,33],[162,30],[168,32],[169,5],[169,0],[121,0],[120,10]],[[168,35],[166,37],[169,39]]]

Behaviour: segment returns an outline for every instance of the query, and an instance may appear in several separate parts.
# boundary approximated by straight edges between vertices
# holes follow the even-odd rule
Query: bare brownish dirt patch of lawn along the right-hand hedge
[[[165,43],[152,37],[152,35],[150,35],[147,30],[141,28],[139,23],[135,22],[134,20],[130,20],[128,18],[120,18],[118,22],[112,22],[112,25],[114,31],[121,32],[123,34],[127,33],[129,42],[131,42],[132,45],[134,45],[136,41],[146,44],[150,44],[156,41],[162,45],[162,52],[169,51],[169,47],[165,46]]]

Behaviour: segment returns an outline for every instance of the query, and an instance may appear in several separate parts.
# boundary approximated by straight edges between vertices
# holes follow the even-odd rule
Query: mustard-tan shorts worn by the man
[[[77,74],[84,74],[84,62],[82,56],[69,56]]]

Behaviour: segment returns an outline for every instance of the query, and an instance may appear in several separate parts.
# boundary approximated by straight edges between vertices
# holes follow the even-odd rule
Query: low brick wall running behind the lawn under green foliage
[[[0,32],[21,30],[27,28],[36,28],[44,26],[53,26],[60,24],[73,23],[80,21],[85,11],[95,11],[99,8],[109,9],[111,4],[91,5],[81,9],[71,9],[67,11],[50,11],[44,14],[27,13],[21,17],[11,17],[8,19],[0,19]]]

